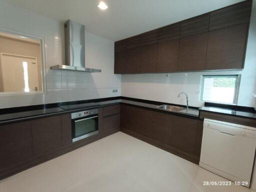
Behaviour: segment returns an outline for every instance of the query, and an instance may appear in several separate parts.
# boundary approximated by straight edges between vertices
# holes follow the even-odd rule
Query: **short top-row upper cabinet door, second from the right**
[[[195,35],[209,30],[209,13],[181,21],[180,37]]]

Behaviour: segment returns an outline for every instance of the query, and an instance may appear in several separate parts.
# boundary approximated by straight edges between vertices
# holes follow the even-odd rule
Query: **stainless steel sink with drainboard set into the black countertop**
[[[164,110],[164,111],[171,111],[171,112],[175,112],[175,113],[182,113],[182,114],[187,114],[187,115],[192,115],[192,116],[197,116],[197,117],[199,115],[199,111],[196,109],[186,109],[184,107],[178,107],[178,106],[174,106],[174,105],[160,105],[155,108]]]

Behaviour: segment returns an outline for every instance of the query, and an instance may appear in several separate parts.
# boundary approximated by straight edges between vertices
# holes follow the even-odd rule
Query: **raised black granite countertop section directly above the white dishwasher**
[[[252,107],[243,107],[235,105],[205,103],[204,107],[199,108],[199,111],[207,111],[213,113],[220,113],[225,115],[233,115],[244,118],[256,119],[256,111]]]

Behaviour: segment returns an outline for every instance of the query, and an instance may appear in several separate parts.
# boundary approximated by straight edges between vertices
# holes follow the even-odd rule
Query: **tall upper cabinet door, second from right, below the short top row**
[[[180,38],[178,71],[205,69],[208,32]]]

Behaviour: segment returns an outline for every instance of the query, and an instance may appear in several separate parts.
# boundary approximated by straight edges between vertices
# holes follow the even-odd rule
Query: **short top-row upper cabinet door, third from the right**
[[[158,42],[179,38],[180,22],[161,27],[157,30]]]

